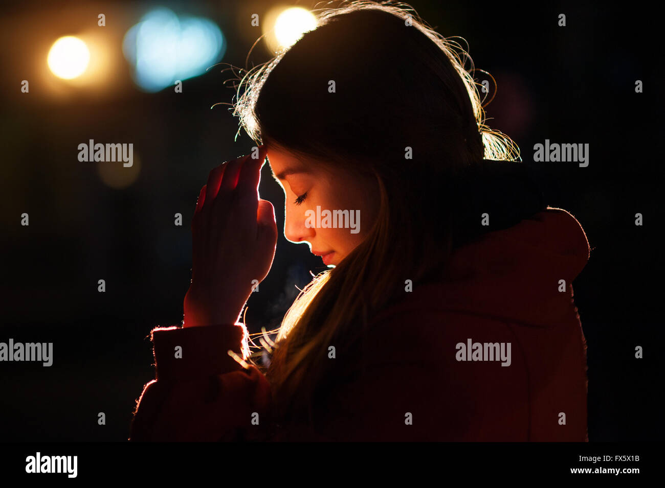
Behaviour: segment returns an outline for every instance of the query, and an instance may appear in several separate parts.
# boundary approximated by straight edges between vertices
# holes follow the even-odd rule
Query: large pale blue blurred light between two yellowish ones
[[[125,58],[134,66],[134,80],[147,92],[203,74],[221,60],[226,42],[209,19],[178,17],[159,8],[142,17],[125,35]]]

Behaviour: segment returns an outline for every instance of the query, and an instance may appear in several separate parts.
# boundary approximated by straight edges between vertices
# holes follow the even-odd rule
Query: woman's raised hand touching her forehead
[[[183,327],[233,325],[275,258],[275,208],[259,200],[259,157],[219,165],[201,189],[192,218],[192,284],[184,300]]]

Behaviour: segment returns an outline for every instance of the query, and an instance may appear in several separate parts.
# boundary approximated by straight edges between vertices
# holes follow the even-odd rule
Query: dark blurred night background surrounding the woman
[[[185,80],[181,94],[142,92],[126,62],[100,87],[77,88],[49,74],[49,46],[62,35],[94,29],[97,14],[105,13],[102,35],[113,37],[118,50],[141,15],[166,5],[215,21],[228,42],[222,62],[251,67],[271,54],[260,42],[245,65],[260,35],[249,15],[273,4],[3,7],[0,341],[53,342],[54,363],[0,363],[0,440],[126,440],[135,400],[154,378],[146,335],[182,320],[199,189],[212,167],[254,145],[244,132],[234,141],[238,120],[228,106],[211,110],[235,94],[228,82],[233,75],[221,72],[225,66]],[[533,165],[548,204],[571,212],[593,248],[573,283],[589,346],[589,440],[658,440],[663,71],[660,44],[650,39],[659,32],[658,17],[642,8],[599,10],[577,2],[527,9],[489,2],[410,5],[438,32],[469,42],[475,66],[498,85],[485,109],[489,125],[512,137],[525,163],[545,139],[589,143],[589,167]],[[567,27],[557,26],[559,13],[567,15]],[[21,80],[30,81],[29,94],[21,93]],[[644,93],[634,92],[635,80],[644,82]],[[88,139],[134,143],[136,181],[124,189],[105,185],[97,168],[104,163],[77,159],[78,144]],[[261,197],[275,204],[281,231],[283,195],[267,165]],[[29,226],[21,226],[23,212]],[[174,225],[176,212],[182,226]],[[634,225],[636,212],[644,214],[644,226]],[[250,331],[277,327],[296,286],[323,269],[307,246],[280,232],[271,273],[249,300]],[[97,291],[99,279],[106,280],[105,293]],[[644,359],[634,358],[637,345]],[[98,412],[106,414],[105,426],[97,424]]]

